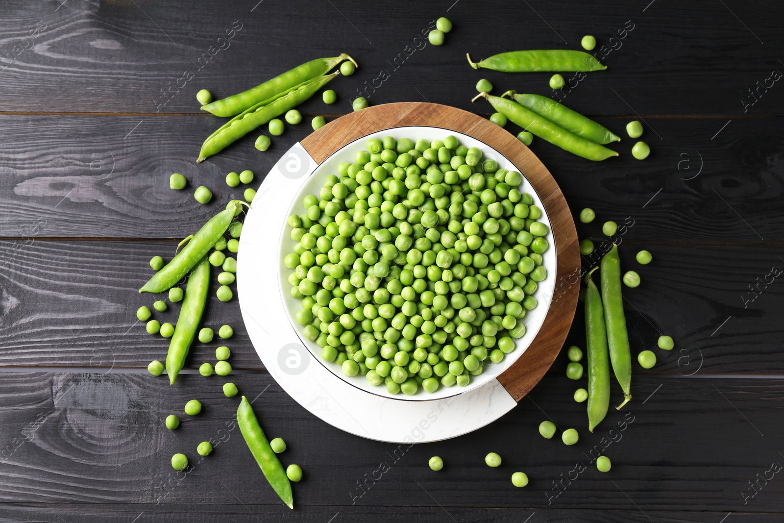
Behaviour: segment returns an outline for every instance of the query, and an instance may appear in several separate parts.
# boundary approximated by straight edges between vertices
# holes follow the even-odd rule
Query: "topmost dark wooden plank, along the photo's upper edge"
[[[480,60],[514,49],[579,49],[590,32],[599,42],[594,53],[609,68],[582,80],[567,76],[574,87],[561,96],[579,111],[782,114],[777,82],[769,78],[782,70],[776,49],[784,40],[778,17],[771,16],[779,5],[770,0],[648,7],[619,0],[535,6],[494,0],[481,12],[462,2],[448,13],[421,2],[368,10],[356,0],[221,2],[200,9],[183,2],[69,3],[4,2],[5,111],[198,113],[199,89],[236,93],[341,51],[361,65],[353,77],[334,82],[343,111],[363,89],[374,104],[429,100],[468,109],[483,77],[499,93],[552,92],[549,73],[474,71],[466,52]],[[445,45],[434,47],[422,35],[444,14],[454,29]],[[757,98],[749,89],[760,89]],[[309,112],[323,107],[316,101],[305,106]]]

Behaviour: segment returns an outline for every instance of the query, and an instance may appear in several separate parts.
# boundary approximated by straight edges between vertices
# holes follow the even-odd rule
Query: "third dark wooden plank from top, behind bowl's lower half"
[[[147,334],[143,323],[136,321],[136,309],[151,307],[157,295],[136,291],[152,274],[150,258],[169,259],[175,246],[0,242],[0,365],[138,369],[153,359],[162,360],[168,341]],[[639,265],[634,260],[639,249],[650,250],[653,262]],[[650,371],[635,363],[635,373],[691,374],[699,369],[701,374],[784,374],[778,342],[781,322],[768,313],[784,292],[781,277],[768,276],[771,268],[784,267],[778,246],[622,243],[619,250],[624,270],[637,271],[642,280],[637,289],[623,289],[633,354],[653,349],[659,334],[673,336],[676,343],[670,352],[655,349],[659,364]],[[597,260],[583,257],[583,265]],[[234,337],[226,343],[233,351],[232,365],[260,369],[236,298],[222,303],[215,290],[213,283],[205,325],[232,325]],[[170,304],[169,311],[156,312],[154,318],[176,323],[178,311],[178,304]],[[579,306],[564,345],[584,348],[584,332]],[[212,361],[219,342],[216,336],[212,343],[195,344],[187,368]],[[552,372],[562,376],[565,365],[564,354]]]

